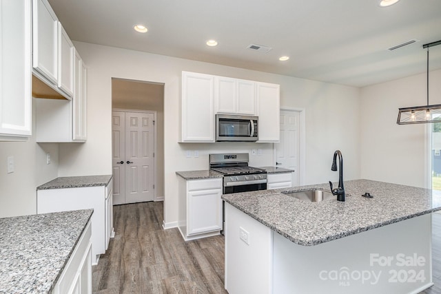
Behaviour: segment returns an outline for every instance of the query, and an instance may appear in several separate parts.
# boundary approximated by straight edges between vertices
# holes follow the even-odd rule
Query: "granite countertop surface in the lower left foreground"
[[[92,213],[0,218],[0,293],[51,293]]]

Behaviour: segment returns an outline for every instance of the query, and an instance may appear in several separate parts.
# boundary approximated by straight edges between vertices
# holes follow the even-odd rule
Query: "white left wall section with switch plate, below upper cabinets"
[[[35,134],[35,107],[32,107],[32,134]],[[46,153],[51,164],[46,165]],[[0,142],[0,218],[37,213],[37,186],[57,178],[58,144]],[[14,156],[15,171],[7,174],[7,158]]]

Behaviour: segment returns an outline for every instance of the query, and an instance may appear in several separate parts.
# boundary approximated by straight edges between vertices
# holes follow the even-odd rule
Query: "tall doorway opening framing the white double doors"
[[[164,200],[164,84],[112,78],[112,109],[114,204]]]

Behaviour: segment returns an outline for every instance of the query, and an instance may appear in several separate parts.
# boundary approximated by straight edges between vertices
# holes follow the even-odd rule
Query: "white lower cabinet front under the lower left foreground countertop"
[[[89,222],[55,284],[53,294],[92,293],[91,238],[92,227]]]

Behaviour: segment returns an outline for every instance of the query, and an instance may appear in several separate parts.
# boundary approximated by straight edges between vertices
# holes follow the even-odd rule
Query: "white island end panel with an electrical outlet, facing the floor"
[[[227,202],[225,228],[225,289],[229,294],[271,293],[271,229]]]

